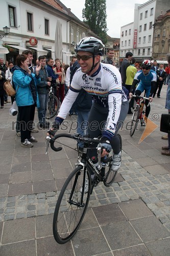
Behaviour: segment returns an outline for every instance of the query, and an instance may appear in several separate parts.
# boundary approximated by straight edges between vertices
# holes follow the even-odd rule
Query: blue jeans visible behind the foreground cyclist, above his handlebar
[[[78,111],[78,127],[77,133],[80,133],[82,136],[87,134],[87,127],[88,127],[88,116],[89,111]],[[79,147],[83,147],[83,142],[78,143]]]

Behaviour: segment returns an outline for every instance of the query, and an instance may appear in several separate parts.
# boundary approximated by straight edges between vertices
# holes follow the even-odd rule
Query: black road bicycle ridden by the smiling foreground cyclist
[[[122,151],[122,138],[118,134],[117,136],[120,141],[120,150]],[[77,142],[84,142],[82,153],[79,152],[77,147],[79,153],[78,161],[75,164],[77,167],[65,181],[60,191],[54,212],[54,238],[57,243],[64,244],[68,242],[78,230],[84,218],[93,187],[97,186],[99,182],[103,182],[105,186],[110,186],[114,181],[117,172],[113,171],[111,168],[113,150],[111,150],[109,155],[101,158],[102,144],[99,143],[100,137],[91,139],[81,136],[80,134],[58,134],[52,139],[49,136],[47,137],[47,140],[50,140],[51,148],[56,152],[62,150],[62,147],[56,148],[54,146],[54,142],[61,137],[71,138]],[[93,156],[90,158],[88,156],[88,150],[91,150],[92,148],[96,148],[97,157]],[[91,178],[91,173],[94,174],[93,179]],[[88,191],[87,193],[84,193],[87,179]]]

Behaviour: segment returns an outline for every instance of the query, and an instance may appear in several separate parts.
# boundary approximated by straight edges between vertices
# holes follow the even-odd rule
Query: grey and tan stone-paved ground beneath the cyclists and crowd
[[[22,244],[22,246],[24,243],[29,244],[29,253],[25,253],[24,246],[23,248],[21,246],[22,250],[18,255],[48,255],[47,253],[51,253],[51,255],[63,255],[65,253],[69,255],[129,255],[128,253],[132,253],[132,255],[168,255],[163,252],[160,252],[159,254],[158,248],[156,249],[156,245],[159,244],[160,240],[161,246],[163,243],[164,248],[166,248],[165,251],[169,251],[168,247],[170,244],[168,241],[170,234],[170,158],[163,156],[160,153],[162,145],[167,145],[167,140],[161,139],[161,136],[165,134],[159,131],[160,116],[162,113],[167,112],[164,109],[165,94],[166,88],[164,87],[161,93],[161,98],[155,98],[151,105],[149,118],[158,125],[158,128],[141,143],[139,143],[139,139],[141,138],[144,127],[138,126],[138,131],[135,131],[134,136],[130,137],[127,127],[131,115],[127,116],[126,123],[122,131],[120,131],[123,139],[122,166],[118,171],[115,182],[110,187],[105,187],[103,184],[99,184],[94,188],[88,207],[89,211],[92,209],[95,219],[98,220],[99,229],[102,230],[102,233],[104,234],[104,240],[106,240],[107,243],[103,246],[105,248],[109,246],[109,249],[102,250],[100,241],[98,241],[99,244],[97,244],[99,245],[100,250],[96,249],[94,252],[93,246],[91,245],[89,251],[87,253],[83,252],[83,254],[83,244],[89,244],[89,241],[86,241],[89,236],[88,233],[85,238],[84,234],[81,234],[81,231],[78,231],[79,236],[76,236],[76,240],[74,241],[75,238],[72,239],[71,245],[68,243],[69,245],[67,244],[64,249],[63,247],[62,249],[60,248],[60,252],[56,253],[52,249],[52,247],[56,249],[57,246],[53,241],[52,232],[49,231],[49,233],[44,234],[43,229],[43,232],[38,234],[36,226],[38,225],[37,223],[39,223],[38,220],[40,220],[38,218],[41,218],[44,227],[47,225],[45,223],[48,223],[50,226],[52,225],[52,217],[60,189],[77,161],[77,152],[65,145],[76,147],[76,143],[73,143],[72,140],[62,138],[60,141],[65,144],[62,146],[63,150],[54,153],[49,149],[48,154],[45,155],[44,138],[46,131],[40,130],[39,133],[33,134],[33,136],[38,139],[38,143],[35,143],[33,148],[22,148],[20,146],[20,139],[15,136],[14,131],[11,131],[11,128],[13,127],[12,121],[15,121],[16,118],[9,116],[8,111],[10,105],[6,104],[3,112],[0,113],[0,254],[2,252],[2,255],[9,255],[13,251],[14,255],[16,255],[15,243],[17,244],[18,241],[24,241],[19,244]],[[76,117],[67,117],[66,121],[70,126],[76,121]],[[65,133],[67,131],[60,132]],[[132,206],[133,202],[135,208]],[[111,246],[109,242],[110,236],[107,238],[108,229],[104,230],[105,226],[103,227],[102,224],[100,225],[98,214],[95,212],[96,208],[98,208],[99,211],[102,211],[103,206],[105,206],[106,210],[106,205],[107,207],[118,206],[121,209],[121,212],[124,213],[124,216],[126,216],[126,219],[123,220],[125,222],[129,220],[130,225],[133,226],[140,239],[142,235],[134,223],[130,221],[131,216],[128,216],[128,213],[126,212],[127,209],[125,210],[125,208],[130,205],[133,211],[137,211],[139,208],[139,211],[142,212],[144,209],[147,214],[144,212],[141,216],[139,211],[136,215],[133,215],[133,211],[131,211],[131,215],[133,216],[132,219],[140,220],[141,217],[144,217],[146,218],[145,220],[147,220],[147,218],[150,219],[151,217],[153,218],[156,216],[155,219],[151,218],[151,223],[156,226],[158,225],[158,229],[162,230],[162,232],[160,232],[161,236],[152,237],[153,234],[150,234],[150,238],[147,238],[147,232],[149,232],[149,230],[147,229],[147,226],[145,226],[147,231],[143,234],[143,238],[140,241],[129,244],[126,240],[125,244],[122,244],[121,246],[116,247],[115,244],[114,246]],[[118,212],[118,216],[121,216],[120,212]],[[115,218],[118,217],[115,215]],[[30,224],[31,220],[34,219],[36,224]],[[45,220],[46,222],[44,223]],[[121,222],[122,219],[119,221]],[[29,225],[36,227],[34,230],[36,237],[32,237],[31,234],[28,237],[23,235],[23,238],[17,238],[16,240],[13,238],[9,239],[7,234],[12,226],[22,222],[25,223],[24,226],[27,228]],[[92,232],[94,226],[98,226],[97,224],[94,225],[94,222],[93,224],[91,223],[92,228],[89,232]],[[121,230],[120,222],[118,222],[119,228],[117,227],[116,236],[118,236],[118,233]],[[162,226],[159,226],[159,223],[161,223]],[[88,227],[84,228],[86,230]],[[113,229],[114,228],[115,225],[113,226]],[[125,226],[122,228],[126,230]],[[152,230],[152,227],[150,228]],[[46,227],[46,229],[48,229],[48,227]],[[156,231],[152,230],[152,233],[154,232]],[[80,240],[78,243],[78,240],[81,237],[80,234],[84,240]],[[38,250],[39,244],[37,238],[41,238],[42,241],[45,238],[46,247],[43,247],[45,252],[42,252],[40,249]],[[35,248],[34,246],[31,246],[34,239],[36,241],[36,245],[34,245]],[[50,239],[50,242],[48,239]],[[155,244],[147,244],[151,243],[151,241],[155,241]],[[51,244],[49,248],[48,244]],[[135,245],[137,245],[137,247],[135,247],[136,250],[134,249]],[[31,251],[31,247],[35,250]],[[131,249],[128,252],[129,247]],[[124,254],[119,254],[116,249],[121,249],[121,253]],[[74,252],[72,252],[72,250]]]

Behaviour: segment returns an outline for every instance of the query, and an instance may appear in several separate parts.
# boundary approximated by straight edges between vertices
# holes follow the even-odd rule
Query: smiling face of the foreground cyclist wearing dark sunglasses
[[[92,65],[93,65],[93,55],[90,52],[83,52],[83,51],[79,51],[77,55],[81,56],[81,57],[83,56],[85,58],[88,58],[86,56],[89,56],[89,58],[87,60],[82,60],[82,58],[79,60],[79,58],[78,58],[82,72],[88,73],[91,70]],[[94,57],[94,65],[95,65],[95,63],[97,63],[99,61],[100,61],[100,56],[99,55],[95,56]]]

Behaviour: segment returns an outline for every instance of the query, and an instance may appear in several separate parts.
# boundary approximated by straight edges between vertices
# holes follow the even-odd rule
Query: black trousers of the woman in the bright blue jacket
[[[33,109],[35,113],[35,105],[18,106],[21,142],[31,138]]]

